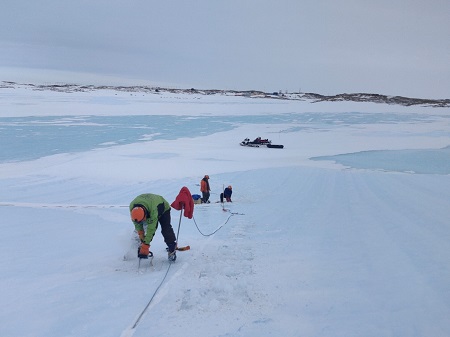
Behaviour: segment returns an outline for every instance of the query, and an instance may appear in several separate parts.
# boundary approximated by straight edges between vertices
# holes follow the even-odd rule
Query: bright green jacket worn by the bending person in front
[[[170,210],[170,205],[162,196],[147,193],[134,198],[130,203],[130,212],[136,206],[142,206],[146,210],[147,219],[145,223],[147,224],[147,232],[145,233],[144,242],[150,244],[158,227],[159,218],[163,213]],[[144,230],[144,224],[134,221],[133,224],[137,231]]]

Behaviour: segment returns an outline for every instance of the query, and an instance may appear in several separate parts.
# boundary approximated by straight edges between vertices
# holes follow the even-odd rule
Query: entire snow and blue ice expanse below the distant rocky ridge
[[[0,96],[2,335],[450,335],[448,108]],[[169,264],[158,230],[138,270],[129,202],[205,174],[213,202],[172,210],[191,250]]]

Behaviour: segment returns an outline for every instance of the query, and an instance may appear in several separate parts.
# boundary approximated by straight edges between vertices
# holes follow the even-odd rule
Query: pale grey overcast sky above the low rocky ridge
[[[0,80],[450,97],[449,0],[0,3]]]

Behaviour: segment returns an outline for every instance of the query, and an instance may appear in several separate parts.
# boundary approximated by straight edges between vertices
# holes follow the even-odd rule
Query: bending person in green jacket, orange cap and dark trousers
[[[157,194],[138,195],[130,203],[130,215],[141,240],[138,257],[148,258],[150,242],[153,240],[159,223],[164,242],[167,244],[168,258],[170,261],[175,261],[177,242],[170,221],[170,205],[167,200]]]

